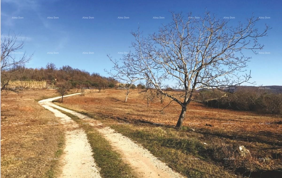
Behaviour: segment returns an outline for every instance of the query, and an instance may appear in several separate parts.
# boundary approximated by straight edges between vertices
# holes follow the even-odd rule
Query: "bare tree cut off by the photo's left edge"
[[[20,66],[30,61],[33,56],[32,54],[27,57],[25,52],[21,52],[23,55],[18,59],[16,58],[15,54],[18,54],[18,51],[24,47],[24,40],[19,41],[19,38],[19,35],[10,36],[10,34],[1,38],[1,91],[19,93],[19,90],[15,89],[17,86],[10,86],[9,82],[17,70],[21,69]]]

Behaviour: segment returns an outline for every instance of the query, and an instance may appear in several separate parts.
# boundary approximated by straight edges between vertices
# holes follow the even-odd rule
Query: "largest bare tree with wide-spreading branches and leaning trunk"
[[[239,22],[237,27],[228,26],[228,21],[217,19],[210,12],[199,18],[189,18],[191,13],[186,19],[182,14],[172,13],[172,17],[171,23],[148,37],[142,36],[139,27],[132,32],[135,52],[129,52],[121,61],[126,77],[145,80],[181,106],[176,124],[180,127],[195,90],[224,91],[223,87],[250,83],[250,72],[244,74],[250,57],[243,52],[252,50],[257,54],[256,50],[263,48],[257,40],[266,36],[270,28],[266,25],[259,32],[255,28],[259,18],[254,16],[244,24]],[[174,88],[183,92],[165,91],[165,81],[175,82]]]

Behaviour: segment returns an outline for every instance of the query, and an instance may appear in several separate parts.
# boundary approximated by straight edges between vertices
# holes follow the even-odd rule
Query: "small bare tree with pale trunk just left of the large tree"
[[[127,64],[125,63],[126,61],[124,61],[124,65],[119,66],[118,61],[113,60],[109,55],[107,56],[113,62],[114,66],[111,71],[105,70],[105,72],[110,74],[113,79],[121,80],[126,83],[123,87],[124,89],[126,89],[126,96],[124,100],[124,102],[126,103],[130,89],[133,87],[134,83],[139,80],[138,77],[136,77],[137,73],[133,73],[133,71],[127,68]]]

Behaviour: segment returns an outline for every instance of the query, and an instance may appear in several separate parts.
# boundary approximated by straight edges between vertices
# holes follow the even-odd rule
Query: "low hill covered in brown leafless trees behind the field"
[[[74,69],[69,65],[64,65],[59,69],[53,64],[48,63],[45,68],[26,68],[17,66],[12,69],[11,81],[47,81],[48,84],[60,85],[69,82],[73,88],[92,87],[97,89],[113,88],[118,83],[116,80],[101,76],[85,70]]]

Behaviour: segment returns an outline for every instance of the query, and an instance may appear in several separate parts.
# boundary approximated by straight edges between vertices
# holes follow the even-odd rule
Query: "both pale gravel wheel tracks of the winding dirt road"
[[[73,96],[73,95],[78,95],[80,93],[76,93],[76,94],[72,94],[72,95],[66,95],[64,97],[67,96]],[[113,129],[109,128],[109,127],[101,127],[102,123],[98,122],[97,120],[94,120],[92,118],[89,118],[85,115],[82,115],[80,113],[77,113],[75,111],[69,110],[69,109],[65,109],[63,107],[57,106],[55,104],[52,103],[53,100],[59,99],[60,97],[56,97],[56,98],[49,98],[46,100],[41,100],[39,101],[39,104],[41,104],[43,107],[45,107],[46,109],[49,109],[50,111],[52,111],[53,113],[55,113],[56,117],[60,117],[62,118],[62,120],[67,120],[67,123],[70,123],[71,121],[70,118],[67,115],[64,115],[63,113],[61,113],[60,111],[54,109],[61,109],[65,112],[68,112],[72,115],[75,115],[77,117],[79,117],[80,119],[83,119],[86,122],[91,123],[91,125],[93,127],[95,126],[100,126],[100,127],[95,127],[96,130],[98,130],[104,137],[105,139],[107,139],[109,141],[109,143],[111,144],[111,146],[118,151],[119,153],[121,153],[122,155],[122,159],[127,162],[128,164],[130,164],[133,167],[133,170],[135,170],[136,174],[138,175],[138,177],[183,177],[182,175],[180,175],[177,172],[174,172],[171,168],[169,168],[164,162],[160,161],[157,157],[153,156],[148,150],[146,150],[145,148],[143,148],[142,146],[134,143],[131,139],[123,136],[120,133],[115,132]],[[54,107],[54,108],[53,108]],[[74,121],[72,121],[74,122]],[[73,126],[75,127],[75,124],[73,124]],[[75,165],[76,163],[72,163],[72,161],[75,161],[75,159],[77,158],[85,158],[86,155],[90,155],[91,156],[91,149],[90,146],[87,142],[87,138],[85,136],[85,133],[81,130],[80,131],[80,141],[83,140],[85,149],[88,150],[85,153],[79,153],[80,155],[74,155],[73,152],[75,150],[79,151],[79,150],[84,150],[81,149],[81,143],[76,142],[76,138],[74,135],[78,134],[77,132],[69,132],[70,136],[67,137],[67,139],[69,139],[69,146],[66,148],[65,152],[66,152],[66,156],[64,158],[64,162],[65,162],[65,166],[63,167],[63,175],[62,177],[64,177],[68,170],[69,171],[73,171],[74,176],[76,176],[76,171],[74,169],[78,169],[79,172],[81,172],[81,168],[77,168]],[[77,140],[78,141],[78,140]],[[86,143],[86,142],[87,143]],[[68,141],[67,141],[68,143]],[[90,153],[89,153],[90,152]],[[82,156],[83,155],[83,156]],[[81,160],[82,161],[82,160]],[[89,165],[94,165],[94,160],[88,160],[89,162],[85,162],[83,164],[85,167],[89,166]],[[79,163],[78,163],[79,164]],[[72,167],[74,166],[74,167]],[[83,166],[82,166],[83,167]],[[88,168],[83,168],[83,170],[85,170],[85,175],[84,177],[89,177],[89,172],[88,170],[90,169]],[[99,172],[98,172],[98,168],[97,167],[93,167],[94,171],[95,171],[95,175],[90,175],[90,177],[92,176],[100,176]]]

